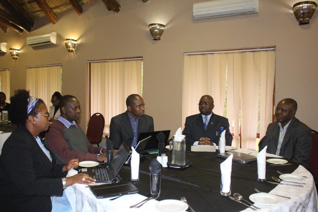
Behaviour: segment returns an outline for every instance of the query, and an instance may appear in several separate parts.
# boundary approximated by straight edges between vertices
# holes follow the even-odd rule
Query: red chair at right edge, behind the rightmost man
[[[311,138],[313,140],[313,146],[311,148],[311,154],[308,162],[308,168],[314,174],[315,183],[317,185],[318,178],[318,132],[315,130],[311,130]]]

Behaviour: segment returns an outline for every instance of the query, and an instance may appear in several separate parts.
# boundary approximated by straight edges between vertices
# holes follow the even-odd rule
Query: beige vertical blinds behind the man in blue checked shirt
[[[104,133],[109,133],[112,117],[127,110],[126,98],[142,96],[142,58],[90,63],[90,116],[101,113]]]

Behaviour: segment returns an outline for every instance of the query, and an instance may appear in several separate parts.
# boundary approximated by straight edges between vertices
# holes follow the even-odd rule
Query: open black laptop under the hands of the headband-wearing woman
[[[113,182],[118,172],[120,171],[122,165],[126,161],[129,155],[129,147],[122,142],[117,153],[115,154],[113,160],[107,167],[95,167],[95,168],[81,168],[79,173],[85,173],[96,179],[97,183],[101,182]]]

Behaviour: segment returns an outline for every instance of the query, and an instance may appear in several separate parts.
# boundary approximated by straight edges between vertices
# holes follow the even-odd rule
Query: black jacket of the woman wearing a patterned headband
[[[19,126],[0,156],[0,211],[51,211],[50,196],[63,195],[63,165],[48,159],[29,130]]]

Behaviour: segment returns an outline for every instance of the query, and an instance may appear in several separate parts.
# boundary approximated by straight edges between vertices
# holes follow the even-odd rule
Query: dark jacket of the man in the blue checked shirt
[[[143,132],[153,132],[154,131],[154,119],[151,116],[143,115],[138,120],[138,131],[137,139],[139,133]],[[114,116],[110,120],[109,125],[109,139],[114,142],[114,148],[118,149],[121,142],[125,142],[128,147],[134,139],[133,128],[128,117],[128,111]]]

